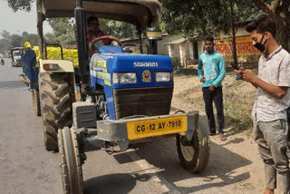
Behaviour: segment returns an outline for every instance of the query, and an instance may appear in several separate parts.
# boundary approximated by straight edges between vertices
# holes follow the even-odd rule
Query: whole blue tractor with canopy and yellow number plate
[[[88,54],[86,15],[135,24],[141,46],[142,31],[160,20],[159,1],[37,0],[36,7],[41,41],[45,18],[75,18],[80,82],[72,62],[39,61],[44,145],[60,152],[64,193],[82,193],[87,150],[117,145],[124,151],[131,143],[153,137],[176,137],[181,164],[190,172],[204,170],[209,139],[198,112],[169,114],[174,86],[169,56],[130,53],[111,36],[98,37],[92,45],[104,38],[116,45],[95,47],[92,57]],[[39,46],[43,53],[43,43]]]

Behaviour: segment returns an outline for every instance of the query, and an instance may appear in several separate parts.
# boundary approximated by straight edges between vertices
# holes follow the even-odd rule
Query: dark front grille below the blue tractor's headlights
[[[169,114],[173,86],[113,89],[116,119]]]

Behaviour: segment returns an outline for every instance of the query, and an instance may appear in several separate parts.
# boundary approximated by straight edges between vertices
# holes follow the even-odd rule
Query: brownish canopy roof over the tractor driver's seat
[[[73,17],[75,0],[36,0],[37,12],[46,17]],[[161,5],[158,0],[87,0],[82,1],[87,15],[135,24],[144,30],[160,22]]]

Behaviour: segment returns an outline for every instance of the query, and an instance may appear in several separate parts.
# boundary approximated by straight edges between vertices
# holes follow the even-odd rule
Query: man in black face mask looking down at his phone
[[[281,190],[290,192],[289,160],[286,156],[288,123],[286,109],[290,102],[290,54],[275,40],[275,23],[266,15],[260,15],[247,24],[253,44],[261,55],[258,75],[251,70],[242,73],[242,80],[256,88],[256,100],[252,111],[254,139],[265,164],[266,189],[264,194],[273,194],[276,182]]]

